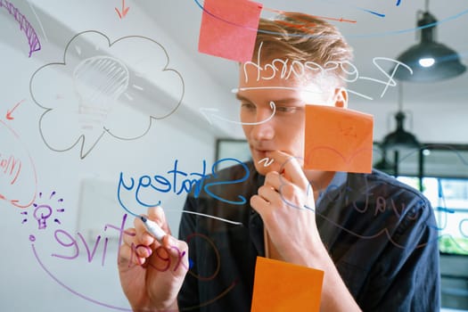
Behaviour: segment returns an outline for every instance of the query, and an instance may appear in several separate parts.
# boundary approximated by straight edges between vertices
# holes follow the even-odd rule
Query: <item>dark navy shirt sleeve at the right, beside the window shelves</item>
[[[438,227],[430,202],[415,199],[391,234],[370,278],[365,311],[439,311]]]

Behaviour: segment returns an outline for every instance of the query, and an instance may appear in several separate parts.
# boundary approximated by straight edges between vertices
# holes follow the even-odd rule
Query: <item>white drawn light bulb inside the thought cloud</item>
[[[123,62],[110,56],[94,56],[73,70],[81,127],[102,128],[112,104],[127,90],[129,74]]]

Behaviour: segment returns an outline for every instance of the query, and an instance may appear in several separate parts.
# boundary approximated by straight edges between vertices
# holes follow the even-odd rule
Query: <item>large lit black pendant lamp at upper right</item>
[[[425,12],[418,12],[417,28],[420,29],[420,43],[408,48],[398,56],[412,70],[397,70],[395,78],[414,82],[433,82],[454,78],[466,70],[460,57],[447,45],[435,41],[436,18],[429,12],[429,0],[426,0]],[[392,71],[390,71],[392,72]]]

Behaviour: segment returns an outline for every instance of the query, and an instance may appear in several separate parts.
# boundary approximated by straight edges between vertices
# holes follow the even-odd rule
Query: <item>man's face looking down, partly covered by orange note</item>
[[[272,170],[280,171],[282,166],[273,162],[266,167],[267,152],[286,152],[303,163],[306,103],[325,104],[330,92],[324,93],[313,81],[303,86],[298,79],[281,78],[280,70],[268,79],[258,79],[258,73],[254,66],[243,69],[241,64],[237,98],[252,160],[259,173],[265,175]],[[271,103],[275,103],[275,115],[270,119]]]

